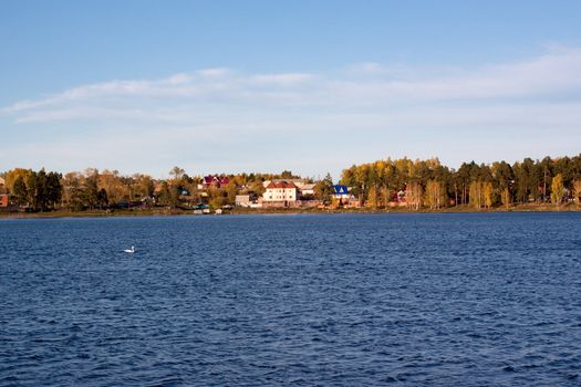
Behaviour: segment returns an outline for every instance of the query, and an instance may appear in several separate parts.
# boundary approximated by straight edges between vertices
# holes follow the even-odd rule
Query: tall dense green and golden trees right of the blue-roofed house
[[[386,159],[344,169],[342,184],[370,207],[384,207],[404,196],[408,207],[474,208],[512,203],[561,203],[581,196],[581,155],[512,165],[464,163],[457,170],[428,160]]]

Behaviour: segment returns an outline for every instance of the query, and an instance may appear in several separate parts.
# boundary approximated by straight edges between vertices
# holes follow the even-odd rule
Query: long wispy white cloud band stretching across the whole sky
[[[426,70],[373,62],[312,73],[247,73],[216,67],[157,80],[81,85],[18,101],[1,107],[0,117],[12,129],[19,125],[74,126],[79,143],[98,127],[141,133],[142,149],[155,148],[158,144],[152,138],[163,133],[183,139],[175,140],[181,153],[190,144],[208,164],[211,157],[204,156],[207,151],[196,144],[197,138],[236,155],[245,136],[257,139],[247,143],[248,148],[266,151],[283,142],[303,146],[293,137],[297,134],[313,144],[325,144],[324,149],[307,145],[305,153],[318,151],[321,158],[332,158],[338,148],[353,148],[357,159],[372,157],[370,149],[375,145],[365,146],[366,138],[374,138],[377,149],[388,144],[383,154],[373,157],[392,149],[416,150],[425,138],[436,140],[421,145],[424,150],[418,156],[442,155],[450,147],[434,137],[439,133],[457,144],[452,148],[457,158],[466,159],[475,153],[473,146],[470,154],[459,154],[463,143],[457,134],[463,130],[478,138],[489,133],[512,133],[512,137],[505,138],[529,142],[529,149],[540,149],[539,138],[548,149],[559,148],[559,138],[544,138],[547,130],[560,130],[569,145],[581,144],[578,69],[581,49],[563,48],[527,60],[471,69]],[[74,143],[74,138],[69,146],[71,140]],[[509,146],[505,144],[505,151]],[[569,151],[572,147],[562,148]],[[481,155],[487,153],[483,150]]]

